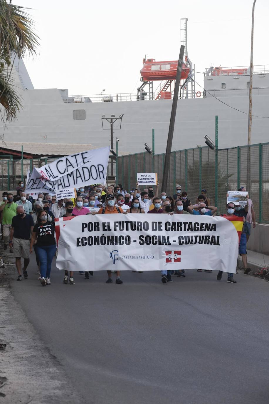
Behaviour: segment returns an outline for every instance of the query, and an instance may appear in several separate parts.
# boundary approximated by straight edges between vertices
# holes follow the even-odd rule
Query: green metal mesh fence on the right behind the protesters
[[[171,153],[167,195],[175,194],[176,185],[188,192],[188,198],[196,203],[201,189],[207,190],[211,205],[218,213],[225,213],[226,194],[246,187],[246,172],[250,148],[250,189],[247,189],[254,204],[256,221],[269,223],[269,143],[238,146],[217,151],[209,147],[196,147]],[[128,191],[136,185],[137,173],[157,173],[160,189],[163,180],[165,154],[136,153],[117,158],[117,183]],[[217,173],[217,176],[215,175]]]

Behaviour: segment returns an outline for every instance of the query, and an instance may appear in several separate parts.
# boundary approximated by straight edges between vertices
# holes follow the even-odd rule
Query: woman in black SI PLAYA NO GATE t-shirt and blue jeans
[[[40,282],[42,286],[46,286],[46,284],[50,285],[51,263],[56,252],[56,242],[54,238],[54,224],[48,221],[48,213],[44,209],[38,212],[37,223],[33,227],[30,243],[31,254],[33,254],[33,244],[36,239],[36,250],[40,259]]]

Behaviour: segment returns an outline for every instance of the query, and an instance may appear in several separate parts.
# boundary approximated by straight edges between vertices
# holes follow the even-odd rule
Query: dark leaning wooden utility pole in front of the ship
[[[181,71],[182,71],[184,49],[185,49],[185,46],[181,45],[180,52],[179,52],[178,65],[177,65],[177,76],[175,79],[175,90],[174,90],[173,103],[172,103],[172,109],[171,109],[169,131],[168,131],[168,137],[167,137],[165,164],[164,164],[164,168],[163,168],[162,192],[166,192],[167,183],[168,183],[170,155],[171,155],[171,148],[172,148],[172,142],[173,142],[175,115],[177,112],[177,99],[178,99],[178,92],[179,92],[179,85],[180,85],[180,78],[181,78]]]

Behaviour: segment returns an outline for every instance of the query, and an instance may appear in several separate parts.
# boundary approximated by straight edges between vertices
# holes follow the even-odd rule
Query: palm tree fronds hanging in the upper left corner
[[[0,104],[6,120],[16,118],[21,102],[12,81],[15,56],[36,55],[38,36],[33,32],[33,20],[25,7],[0,0]]]

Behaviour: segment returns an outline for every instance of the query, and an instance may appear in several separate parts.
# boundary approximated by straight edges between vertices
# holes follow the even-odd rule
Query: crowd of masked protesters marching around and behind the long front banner
[[[108,185],[104,187],[101,184],[92,185],[76,189],[76,198],[57,199],[56,195],[43,194],[37,195],[36,200],[24,192],[23,181],[20,181],[17,187],[16,195],[10,192],[3,192],[0,202],[0,221],[2,224],[2,239],[4,241],[4,250],[9,248],[10,253],[14,254],[15,263],[18,271],[17,280],[28,278],[27,266],[29,265],[30,254],[35,252],[37,264],[38,280],[42,286],[50,285],[50,271],[52,259],[57,254],[55,241],[54,219],[59,217],[95,215],[95,214],[168,214],[168,215],[206,215],[217,214],[217,207],[211,205],[206,189],[202,189],[197,196],[195,203],[192,204],[188,193],[182,191],[181,185],[177,185],[173,196],[166,192],[159,194],[159,185],[154,187],[140,189],[139,184],[133,187],[131,191],[123,189],[121,184]],[[240,187],[238,191],[246,191]],[[226,211],[221,216],[242,217],[244,226],[239,243],[239,254],[242,257],[244,274],[248,274],[250,268],[247,266],[246,243],[250,236],[251,225],[256,226],[255,212],[252,201],[247,196],[246,206],[236,206],[229,202]],[[23,268],[21,268],[21,258],[23,258]],[[202,269],[197,269],[202,271]],[[133,271],[135,272],[135,271]],[[138,271],[142,272],[142,271]],[[205,272],[212,272],[205,269]],[[122,284],[120,271],[115,271],[117,284]],[[79,271],[85,279],[93,276],[93,271]],[[112,283],[112,271],[107,271],[108,279],[106,283]],[[163,283],[173,282],[171,275],[177,275],[185,278],[184,270],[161,271],[161,281]],[[233,274],[227,274],[227,282],[236,283]],[[217,274],[217,280],[221,280],[222,272]],[[75,284],[74,271],[68,274],[65,271],[63,282],[65,284]]]

